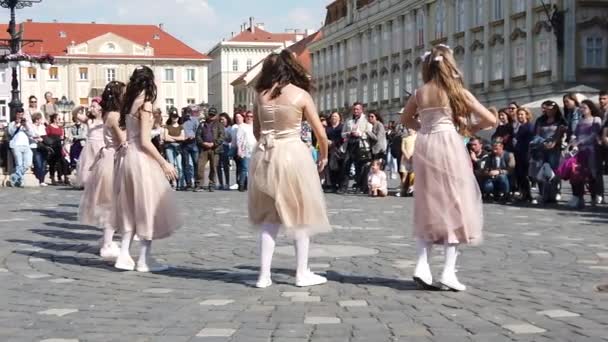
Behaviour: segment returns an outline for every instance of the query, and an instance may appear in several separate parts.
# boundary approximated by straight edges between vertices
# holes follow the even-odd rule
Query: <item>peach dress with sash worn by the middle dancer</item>
[[[310,236],[331,226],[316,164],[301,140],[300,96],[309,97],[288,85],[274,100],[257,100],[261,134],[249,165],[249,219],[257,226],[279,224],[291,236]]]

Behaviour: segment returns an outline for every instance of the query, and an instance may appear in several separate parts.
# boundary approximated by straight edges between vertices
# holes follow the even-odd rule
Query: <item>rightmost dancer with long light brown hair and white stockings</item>
[[[416,196],[414,234],[418,261],[414,280],[431,287],[428,254],[433,244],[443,244],[445,265],[440,283],[454,291],[466,286],[456,277],[457,246],[482,239],[481,192],[459,132],[475,133],[496,127],[496,117],[464,88],[452,50],[437,45],[422,61],[424,85],[410,97],[403,123],[418,128],[414,152]],[[470,114],[479,122],[468,127]],[[416,119],[419,115],[419,120]]]

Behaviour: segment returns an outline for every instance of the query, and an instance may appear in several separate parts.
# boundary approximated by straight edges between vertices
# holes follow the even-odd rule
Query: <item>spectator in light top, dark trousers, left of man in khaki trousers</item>
[[[182,112],[182,127],[184,128],[184,142],[182,144],[182,158],[184,165],[184,190],[198,187],[198,145],[196,144],[196,131],[199,121],[192,115],[192,108],[186,107]]]

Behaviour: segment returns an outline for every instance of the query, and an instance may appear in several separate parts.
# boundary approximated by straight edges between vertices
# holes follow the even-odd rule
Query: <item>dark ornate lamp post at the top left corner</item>
[[[18,53],[21,49],[23,32],[17,32],[17,23],[15,21],[15,9],[21,9],[24,7],[31,7],[32,4],[40,3],[42,0],[0,0],[0,7],[8,8],[11,11],[11,21],[8,25],[7,32],[11,36],[9,40],[9,46],[11,49],[11,53]],[[17,67],[13,67],[13,78],[11,82],[12,90],[12,99],[9,103],[9,107],[11,108],[11,117],[10,121],[15,119],[15,113],[18,108],[23,108],[23,103],[21,103],[20,99],[20,91],[19,91],[19,80],[17,78]]]

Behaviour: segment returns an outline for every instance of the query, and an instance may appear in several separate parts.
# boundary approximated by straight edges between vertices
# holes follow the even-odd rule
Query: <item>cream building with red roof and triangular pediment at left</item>
[[[2,35],[8,38],[6,24]],[[21,68],[21,94],[41,98],[50,91],[88,105],[112,80],[126,82],[139,65],[154,71],[158,106],[185,106],[208,101],[207,70],[211,59],[166,32],[161,25],[42,23],[20,25],[23,38],[40,40],[23,46],[31,55],[50,54],[50,70]]]

